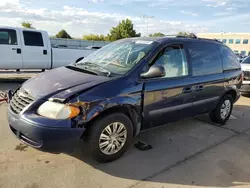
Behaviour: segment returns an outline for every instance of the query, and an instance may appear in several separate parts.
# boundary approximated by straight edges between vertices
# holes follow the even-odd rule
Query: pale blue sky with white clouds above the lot
[[[19,27],[27,21],[50,35],[65,29],[76,38],[107,34],[126,18],[143,36],[250,32],[249,8],[250,0],[0,0],[0,23]]]

